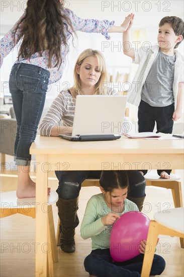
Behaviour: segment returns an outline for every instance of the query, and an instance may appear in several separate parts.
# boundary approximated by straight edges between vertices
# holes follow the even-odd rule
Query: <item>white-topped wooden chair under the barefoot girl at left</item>
[[[58,262],[56,237],[54,230],[54,221],[52,213],[52,204],[58,200],[58,194],[51,190],[48,195],[47,213],[48,213],[48,236],[51,246],[52,260]],[[36,218],[37,208],[35,198],[17,198],[16,191],[8,191],[1,193],[1,213],[0,218],[9,217],[15,214],[22,214],[32,218]],[[45,210],[45,207],[44,207]],[[45,212],[45,211],[44,211]],[[49,258],[47,258],[47,266],[50,269],[50,276],[53,276],[53,266]]]

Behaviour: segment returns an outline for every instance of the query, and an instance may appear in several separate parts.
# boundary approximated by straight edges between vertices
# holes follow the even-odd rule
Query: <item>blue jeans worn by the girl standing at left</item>
[[[16,63],[12,67],[9,87],[17,119],[16,165],[30,165],[29,149],[43,112],[49,77],[49,71],[33,64]]]

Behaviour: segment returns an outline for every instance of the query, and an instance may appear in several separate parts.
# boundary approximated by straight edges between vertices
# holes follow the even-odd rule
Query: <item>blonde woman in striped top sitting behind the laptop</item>
[[[104,56],[93,49],[84,50],[78,57],[74,68],[74,85],[66,91],[61,91],[53,101],[39,125],[41,135],[59,136],[61,133],[71,133],[75,101],[77,95],[114,95],[112,89],[104,90],[103,84],[108,81]],[[84,115],[85,116],[85,115]],[[59,125],[62,122],[62,125]],[[60,226],[60,247],[67,253],[75,251],[75,227],[77,217],[78,196],[81,183],[86,178],[100,178],[101,171],[55,171],[59,180],[57,193],[59,200],[58,216]],[[139,210],[142,209],[145,198],[145,180],[138,171],[127,171],[130,190],[128,198],[134,201]]]

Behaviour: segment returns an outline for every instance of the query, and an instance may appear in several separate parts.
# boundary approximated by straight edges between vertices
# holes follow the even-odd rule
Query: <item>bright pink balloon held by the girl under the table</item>
[[[114,261],[122,262],[140,254],[141,240],[147,240],[149,218],[141,212],[127,212],[112,228],[110,253]]]

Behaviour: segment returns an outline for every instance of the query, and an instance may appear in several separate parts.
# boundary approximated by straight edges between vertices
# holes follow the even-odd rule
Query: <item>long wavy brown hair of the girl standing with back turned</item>
[[[23,38],[18,59],[20,56],[29,58],[36,52],[42,56],[42,51],[48,50],[49,67],[52,67],[53,57],[55,61],[53,66],[58,68],[61,66],[61,42],[63,47],[67,46],[64,29],[68,31],[69,26],[73,31],[70,19],[63,13],[63,4],[59,0],[28,0],[26,14],[16,28],[17,31],[22,23],[20,26],[22,31],[17,39],[19,42]]]

